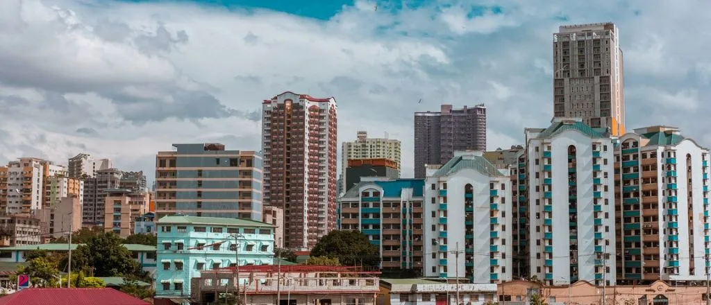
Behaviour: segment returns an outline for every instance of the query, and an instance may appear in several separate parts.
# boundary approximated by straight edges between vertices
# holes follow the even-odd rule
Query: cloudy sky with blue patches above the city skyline
[[[488,149],[523,144],[524,128],[550,124],[552,33],[607,21],[621,35],[628,130],[677,126],[709,145],[709,11],[704,0],[2,0],[0,163],[90,153],[152,180],[172,143],[260,150],[262,100],[294,91],[336,98],[341,142],[359,130],[401,140],[412,177],[415,111],[483,103]]]

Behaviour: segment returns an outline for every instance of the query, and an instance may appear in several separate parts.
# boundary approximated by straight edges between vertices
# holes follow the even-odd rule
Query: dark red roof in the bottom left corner
[[[0,298],[0,305],[146,305],[137,299],[111,288],[28,288]]]

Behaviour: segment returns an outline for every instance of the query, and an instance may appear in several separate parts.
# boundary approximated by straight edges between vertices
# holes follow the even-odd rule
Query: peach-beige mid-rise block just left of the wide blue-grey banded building
[[[148,213],[148,192],[132,189],[109,189],[105,199],[104,231],[114,232],[122,238],[134,233],[138,216]]]

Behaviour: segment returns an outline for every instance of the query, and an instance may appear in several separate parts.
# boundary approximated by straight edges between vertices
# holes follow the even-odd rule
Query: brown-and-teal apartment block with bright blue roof
[[[423,187],[422,179],[368,178],[341,196],[341,230],[368,236],[384,271],[422,275]]]

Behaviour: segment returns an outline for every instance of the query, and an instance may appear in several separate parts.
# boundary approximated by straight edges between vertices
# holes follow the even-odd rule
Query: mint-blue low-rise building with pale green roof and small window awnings
[[[274,226],[246,219],[164,216],[158,226],[157,298],[191,296],[201,270],[273,265]]]

